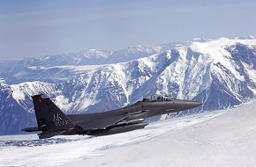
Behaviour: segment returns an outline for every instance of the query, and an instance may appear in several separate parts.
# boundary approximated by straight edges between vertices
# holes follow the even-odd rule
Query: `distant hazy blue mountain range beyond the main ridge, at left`
[[[48,55],[16,61],[0,62],[0,76],[9,84],[26,81],[58,82],[77,76],[85,66],[127,62],[162,52],[162,47],[126,47],[114,52],[90,49],[86,52]],[[81,68],[78,68],[81,67]],[[76,69],[76,70],[72,70]],[[79,70],[77,70],[79,69]],[[86,68],[87,69],[87,68]]]

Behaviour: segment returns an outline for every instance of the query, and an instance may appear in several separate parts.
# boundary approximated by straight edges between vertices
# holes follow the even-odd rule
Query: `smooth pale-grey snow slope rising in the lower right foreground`
[[[64,166],[256,166],[255,108],[256,102],[246,104],[182,130],[169,129],[153,140],[108,149]]]

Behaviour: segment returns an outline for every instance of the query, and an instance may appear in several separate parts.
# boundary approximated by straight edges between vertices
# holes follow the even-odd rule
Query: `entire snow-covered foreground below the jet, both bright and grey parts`
[[[103,137],[1,136],[0,166],[255,166],[256,102]]]

